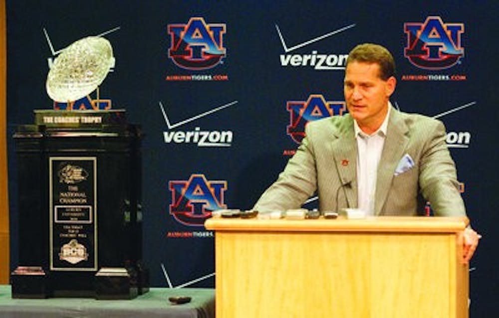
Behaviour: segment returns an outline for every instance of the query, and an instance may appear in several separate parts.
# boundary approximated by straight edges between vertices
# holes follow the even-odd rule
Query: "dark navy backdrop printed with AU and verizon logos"
[[[141,124],[144,259],[153,286],[214,286],[211,210],[248,209],[277,177],[307,121],[344,113],[349,50],[386,46],[395,107],[442,120],[472,225],[472,317],[498,309],[498,136],[494,1],[7,0],[11,268],[17,265],[15,127],[34,109],[89,109],[45,93],[49,64],[101,35],[116,66],[100,108]],[[459,4],[458,4],[459,2]],[[427,2],[429,3],[429,2]],[[95,104],[95,103],[94,103]],[[314,207],[312,200],[307,207]],[[189,285],[193,283],[193,285]]]

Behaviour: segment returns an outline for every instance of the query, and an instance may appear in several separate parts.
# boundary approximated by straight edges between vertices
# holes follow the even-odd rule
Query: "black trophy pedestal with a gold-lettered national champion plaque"
[[[14,134],[19,267],[12,297],[130,299],[147,292],[139,127],[127,123],[124,110],[34,113],[35,125]],[[43,275],[27,274],[32,267]],[[126,268],[128,276],[104,268]]]

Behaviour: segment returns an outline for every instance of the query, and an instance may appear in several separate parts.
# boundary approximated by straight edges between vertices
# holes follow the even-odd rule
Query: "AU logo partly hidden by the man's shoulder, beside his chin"
[[[287,102],[286,109],[290,115],[286,133],[296,144],[301,144],[305,137],[305,125],[309,121],[342,116],[346,107],[345,102],[326,102],[322,95],[310,95],[306,101]]]

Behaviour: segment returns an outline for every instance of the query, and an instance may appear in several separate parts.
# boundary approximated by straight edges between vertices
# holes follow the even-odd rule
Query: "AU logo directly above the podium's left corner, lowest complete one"
[[[226,209],[227,181],[208,181],[204,174],[192,174],[187,181],[170,181],[170,214],[185,225],[202,226],[212,211]]]

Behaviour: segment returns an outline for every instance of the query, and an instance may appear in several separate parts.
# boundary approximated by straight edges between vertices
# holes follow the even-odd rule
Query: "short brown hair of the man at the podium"
[[[346,66],[351,62],[376,63],[380,67],[379,76],[386,81],[395,76],[395,60],[392,53],[379,44],[364,43],[355,46],[346,60]]]

